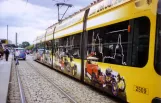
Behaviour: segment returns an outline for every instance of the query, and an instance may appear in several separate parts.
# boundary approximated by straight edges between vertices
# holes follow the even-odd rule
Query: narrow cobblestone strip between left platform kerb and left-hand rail
[[[21,103],[15,65],[12,62],[7,103]]]

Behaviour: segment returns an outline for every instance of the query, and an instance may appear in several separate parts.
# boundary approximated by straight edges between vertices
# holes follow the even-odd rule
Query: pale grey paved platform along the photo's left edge
[[[11,61],[12,57],[9,56],[9,60],[0,60],[0,103],[6,103],[8,86],[10,81],[10,71],[11,71]]]

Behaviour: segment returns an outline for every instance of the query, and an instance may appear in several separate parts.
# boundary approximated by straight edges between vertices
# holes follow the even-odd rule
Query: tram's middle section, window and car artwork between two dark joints
[[[80,36],[75,34],[55,40],[53,68],[80,80]]]

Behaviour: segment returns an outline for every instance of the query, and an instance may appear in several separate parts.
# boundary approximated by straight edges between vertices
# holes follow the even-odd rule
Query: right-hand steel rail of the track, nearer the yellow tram
[[[59,87],[56,83],[54,83],[52,80],[50,80],[47,76],[45,76],[44,74],[42,74],[37,67],[35,67],[33,64],[29,63],[28,61],[26,61],[26,63],[33,68],[38,74],[40,74],[44,79],[46,79],[49,83],[51,83],[54,87],[56,87],[66,98],[68,98],[70,100],[71,103],[77,103],[77,101],[71,97],[68,93],[66,93],[63,89],[61,89],[61,87]]]

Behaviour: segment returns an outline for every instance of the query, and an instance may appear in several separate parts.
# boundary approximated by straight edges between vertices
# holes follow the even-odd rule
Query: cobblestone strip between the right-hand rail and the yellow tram
[[[38,69],[46,75],[50,80],[61,87],[66,93],[72,96],[78,103],[117,103],[118,101],[112,100],[107,96],[93,90],[87,85],[62,75],[54,70],[51,70],[37,62],[28,61],[33,64],[35,69]]]

